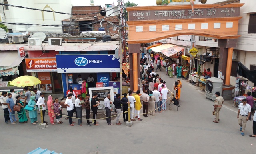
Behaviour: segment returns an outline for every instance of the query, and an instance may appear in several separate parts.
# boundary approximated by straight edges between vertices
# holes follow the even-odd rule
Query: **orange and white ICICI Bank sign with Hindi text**
[[[57,72],[56,58],[25,58],[27,72]]]

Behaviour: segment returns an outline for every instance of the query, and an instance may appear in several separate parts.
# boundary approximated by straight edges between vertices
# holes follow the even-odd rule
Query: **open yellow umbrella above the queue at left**
[[[25,76],[20,76],[16,79],[14,79],[13,81],[10,82],[10,85],[14,85],[17,87],[25,87],[25,86],[33,86],[34,84],[40,84],[41,81],[34,77],[34,76],[29,76],[29,75],[25,75]]]

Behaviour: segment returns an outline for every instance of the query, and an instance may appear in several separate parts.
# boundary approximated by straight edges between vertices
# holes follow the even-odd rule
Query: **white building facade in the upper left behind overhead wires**
[[[51,10],[57,12],[70,13],[72,9],[71,0],[1,0],[3,4]],[[62,25],[62,20],[69,18],[70,15],[58,14],[53,12],[42,12],[11,6],[0,7],[0,17],[2,22],[9,23],[30,23],[44,25]],[[52,31],[62,32],[62,27],[48,26],[29,26],[29,25],[10,25],[6,24],[9,32],[19,31]]]

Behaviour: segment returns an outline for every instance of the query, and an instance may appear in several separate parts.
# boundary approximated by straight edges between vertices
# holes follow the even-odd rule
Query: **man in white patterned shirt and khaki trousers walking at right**
[[[250,116],[251,116],[251,105],[247,104],[246,99],[243,99],[242,103],[240,103],[238,106],[238,112],[237,112],[238,124],[240,125],[240,131],[242,136],[244,136],[246,123],[249,120]]]

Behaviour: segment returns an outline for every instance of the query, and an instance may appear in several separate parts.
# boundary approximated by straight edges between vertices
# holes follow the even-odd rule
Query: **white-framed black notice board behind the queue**
[[[110,101],[114,101],[114,87],[98,87],[98,88],[89,88],[90,94],[90,103],[92,99],[92,94],[98,93],[96,100],[100,101],[98,109],[105,109],[104,99],[107,97],[107,94],[110,94]],[[111,108],[114,109],[114,105],[111,105]]]

